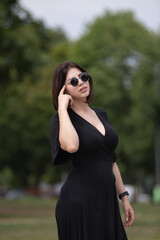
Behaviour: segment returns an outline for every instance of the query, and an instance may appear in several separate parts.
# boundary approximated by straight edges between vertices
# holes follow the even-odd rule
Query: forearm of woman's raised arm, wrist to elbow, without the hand
[[[70,153],[79,148],[79,137],[70,120],[67,109],[59,109],[59,142],[61,148]]]

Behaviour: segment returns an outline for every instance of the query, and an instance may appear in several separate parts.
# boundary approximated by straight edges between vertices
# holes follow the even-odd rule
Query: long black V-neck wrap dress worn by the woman
[[[118,135],[107,113],[92,108],[104,125],[105,135],[71,108],[68,114],[79,136],[79,149],[68,153],[58,140],[58,114],[52,116],[51,149],[54,165],[71,161],[55,216],[59,240],[126,240],[120,216],[112,164]]]

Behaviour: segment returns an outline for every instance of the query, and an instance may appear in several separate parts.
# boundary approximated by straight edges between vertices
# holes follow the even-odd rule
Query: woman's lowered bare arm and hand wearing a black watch
[[[126,189],[124,187],[123,181],[122,181],[122,177],[119,171],[119,168],[117,166],[117,163],[114,162],[113,163],[113,173],[115,175],[116,178],[116,190],[117,190],[117,194],[121,194],[122,192],[125,192]],[[124,196],[122,198],[122,205],[123,205],[123,209],[125,212],[125,222],[124,222],[124,226],[128,227],[130,226],[133,221],[134,221],[134,211],[130,205],[128,196]]]

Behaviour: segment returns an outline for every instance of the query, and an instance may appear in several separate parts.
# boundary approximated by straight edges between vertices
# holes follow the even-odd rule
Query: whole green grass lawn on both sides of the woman
[[[58,240],[55,199],[0,200],[1,240]],[[160,206],[132,204],[134,224],[126,228],[129,240],[160,240]],[[122,212],[122,218],[123,212]],[[76,240],[76,239],[75,239]],[[98,240],[98,239],[97,239]]]

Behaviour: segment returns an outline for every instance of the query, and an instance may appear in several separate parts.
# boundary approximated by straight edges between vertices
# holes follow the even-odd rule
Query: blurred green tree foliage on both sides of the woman
[[[144,175],[153,176],[160,36],[131,12],[105,12],[75,42],[62,29],[48,29],[34,20],[18,0],[1,1],[0,13],[0,171],[9,184],[58,181],[70,167],[51,170],[49,132],[52,72],[67,59],[93,77],[92,105],[107,110],[118,132],[116,153],[125,180],[137,183]]]

